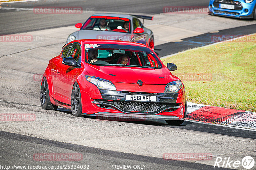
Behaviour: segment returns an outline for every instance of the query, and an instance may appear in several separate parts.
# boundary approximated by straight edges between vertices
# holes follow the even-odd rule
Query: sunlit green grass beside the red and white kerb
[[[253,35],[255,36],[255,35]],[[187,101],[256,111],[256,43],[224,42],[163,59],[178,69]]]

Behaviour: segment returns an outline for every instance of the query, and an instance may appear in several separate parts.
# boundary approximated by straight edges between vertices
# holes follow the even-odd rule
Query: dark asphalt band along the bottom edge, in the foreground
[[[1,150],[5,151],[15,147],[15,150],[8,150],[8,153],[4,153],[0,164],[13,165],[13,162],[24,162],[29,166],[57,166],[57,165],[89,165],[89,169],[111,169],[111,165],[145,165],[145,169],[214,169],[213,166],[197,164],[184,161],[164,160],[162,158],[134,155],[130,153],[108,151],[103,149],[97,149],[92,147],[86,147],[81,145],[74,145],[62,142],[56,142],[52,140],[40,139],[35,137],[28,137],[25,135],[8,133],[0,131],[0,140],[2,143],[8,143],[8,145],[2,145]],[[26,151],[21,152],[24,148]],[[81,161],[65,161],[65,163],[56,163],[54,161],[34,161],[32,155],[35,153],[60,153],[79,152],[83,154],[83,160]],[[5,155],[8,155],[5,157]],[[112,168],[113,169],[113,168]]]

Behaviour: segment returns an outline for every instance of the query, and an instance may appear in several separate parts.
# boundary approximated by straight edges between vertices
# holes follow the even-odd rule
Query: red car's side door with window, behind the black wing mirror
[[[81,63],[81,46],[79,43],[74,43],[66,57],[73,57],[76,59],[76,63]],[[65,58],[66,58],[65,57]],[[71,91],[74,83],[74,78],[79,68],[62,64],[62,61],[58,64],[56,70],[56,90],[58,95],[58,101],[70,105]]]

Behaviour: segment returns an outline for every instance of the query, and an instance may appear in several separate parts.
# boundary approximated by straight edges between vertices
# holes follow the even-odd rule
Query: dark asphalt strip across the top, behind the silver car
[[[93,11],[144,13],[154,15],[163,13],[164,6],[208,6],[208,0],[46,0],[26,3],[2,4],[2,7],[33,9],[34,7],[49,6],[77,6],[82,7],[84,18],[77,17],[76,14],[34,14],[32,11],[19,11],[17,9],[0,10],[0,34],[12,34],[28,31],[36,31],[47,28],[75,25],[89,17]],[[92,13],[90,13],[92,12]],[[10,22],[11,21],[11,22]]]

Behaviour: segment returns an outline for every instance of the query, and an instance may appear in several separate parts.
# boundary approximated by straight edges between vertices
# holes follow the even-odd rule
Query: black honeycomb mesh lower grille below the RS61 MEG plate
[[[114,103],[117,107],[125,111],[133,112],[155,112],[163,107],[160,103],[146,103],[146,102],[123,102],[118,101]]]

